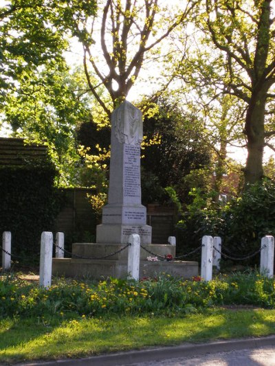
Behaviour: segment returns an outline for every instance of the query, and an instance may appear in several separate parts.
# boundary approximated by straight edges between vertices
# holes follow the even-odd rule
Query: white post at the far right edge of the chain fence
[[[273,277],[274,272],[274,236],[267,235],[261,240],[260,272]]]

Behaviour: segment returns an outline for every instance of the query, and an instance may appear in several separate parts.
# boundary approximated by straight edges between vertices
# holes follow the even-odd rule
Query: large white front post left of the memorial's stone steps
[[[39,284],[45,288],[49,288],[52,284],[52,245],[52,233],[43,231],[41,234]]]

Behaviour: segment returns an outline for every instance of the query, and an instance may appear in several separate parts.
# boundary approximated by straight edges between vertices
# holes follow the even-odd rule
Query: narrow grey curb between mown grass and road
[[[130,352],[118,352],[80,359],[66,359],[48,362],[38,361],[37,363],[20,363],[17,364],[17,366],[122,366],[131,365],[132,363],[142,363],[145,361],[161,361],[167,358],[171,359],[186,356],[198,356],[201,354],[243,350],[247,348],[261,348],[268,345],[275,346],[275,336],[248,339],[231,339],[230,341],[217,341],[210,343],[192,343],[172,347],[169,346]]]

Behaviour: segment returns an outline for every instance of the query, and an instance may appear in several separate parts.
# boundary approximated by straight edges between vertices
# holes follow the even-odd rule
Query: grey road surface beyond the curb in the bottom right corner
[[[129,364],[128,364],[129,365]],[[127,366],[128,366],[127,365]],[[134,363],[131,366],[275,366],[275,346]],[[126,365],[124,365],[126,366]]]

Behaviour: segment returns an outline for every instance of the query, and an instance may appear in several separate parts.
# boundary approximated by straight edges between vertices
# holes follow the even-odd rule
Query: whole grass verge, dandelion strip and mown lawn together
[[[54,279],[49,290],[3,275],[0,363],[266,336],[275,334],[274,308],[275,279],[254,271],[207,283]]]

